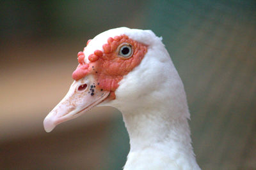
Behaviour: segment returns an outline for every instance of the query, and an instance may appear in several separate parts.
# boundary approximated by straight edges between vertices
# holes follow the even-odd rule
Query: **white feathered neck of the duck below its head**
[[[131,145],[124,169],[200,169],[187,118],[173,119],[170,114],[152,110],[123,113]]]

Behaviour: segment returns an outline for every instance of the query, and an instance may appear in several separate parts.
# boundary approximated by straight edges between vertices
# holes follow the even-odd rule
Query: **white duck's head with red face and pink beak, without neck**
[[[67,95],[45,117],[47,132],[94,106],[122,112],[152,106],[157,99],[164,100],[159,91],[170,85],[170,77],[179,80],[161,38],[152,31],[110,29],[89,40],[77,59]]]

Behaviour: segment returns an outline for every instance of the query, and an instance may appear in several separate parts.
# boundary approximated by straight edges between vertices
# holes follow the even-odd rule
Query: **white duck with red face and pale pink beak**
[[[161,38],[149,30],[110,29],[77,56],[75,81],[45,118],[45,131],[93,106],[113,106],[130,138],[125,170],[200,169],[184,87]]]

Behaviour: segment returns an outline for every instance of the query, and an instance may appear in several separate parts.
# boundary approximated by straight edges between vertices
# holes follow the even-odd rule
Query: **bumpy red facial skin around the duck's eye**
[[[118,55],[118,47],[123,43],[129,43],[132,46],[133,54],[129,59]],[[104,44],[102,48],[103,52],[95,50],[88,56],[89,64],[84,63],[84,53],[79,52],[77,54],[79,65],[72,74],[72,78],[79,80],[87,74],[93,74],[97,80],[97,88],[110,91],[109,97],[115,99],[118,82],[140,64],[147,53],[147,46],[122,35],[109,38],[108,43]]]

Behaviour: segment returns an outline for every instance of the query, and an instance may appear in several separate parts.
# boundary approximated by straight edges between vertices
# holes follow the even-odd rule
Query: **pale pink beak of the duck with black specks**
[[[72,118],[79,117],[82,112],[90,110],[108,97],[109,91],[99,88],[92,75],[74,81],[67,95],[45,117],[44,129],[51,132],[56,125]]]

